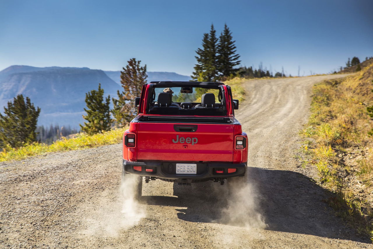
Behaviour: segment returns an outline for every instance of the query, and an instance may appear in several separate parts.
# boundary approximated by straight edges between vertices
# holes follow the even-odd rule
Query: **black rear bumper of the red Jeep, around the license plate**
[[[178,162],[179,163],[179,162]],[[188,162],[193,163],[193,162]],[[197,174],[176,174],[176,162],[130,162],[123,160],[123,169],[126,173],[150,176],[160,179],[193,179],[208,180],[219,178],[230,178],[235,176],[244,176],[247,163],[196,163]],[[141,166],[141,171],[134,170],[134,166]],[[228,169],[236,169],[236,172],[228,173]],[[152,169],[152,172],[146,171]],[[216,173],[215,171],[223,171]]]

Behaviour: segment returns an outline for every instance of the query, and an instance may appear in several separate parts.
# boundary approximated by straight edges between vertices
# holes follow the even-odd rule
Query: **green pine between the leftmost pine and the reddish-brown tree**
[[[110,130],[113,122],[110,117],[110,95],[105,100],[106,103],[104,103],[104,89],[101,88],[101,84],[98,84],[98,90],[91,90],[85,94],[87,109],[84,108],[84,111],[87,115],[83,115],[83,118],[88,122],[84,122],[84,126],[79,124],[83,132],[92,135]]]

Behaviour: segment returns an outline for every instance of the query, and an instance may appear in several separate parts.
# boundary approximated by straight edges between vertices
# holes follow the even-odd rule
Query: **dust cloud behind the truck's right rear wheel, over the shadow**
[[[243,177],[245,182],[228,182],[228,203],[222,209],[222,222],[238,227],[264,229],[267,225],[258,210],[258,191],[248,182],[247,176]]]

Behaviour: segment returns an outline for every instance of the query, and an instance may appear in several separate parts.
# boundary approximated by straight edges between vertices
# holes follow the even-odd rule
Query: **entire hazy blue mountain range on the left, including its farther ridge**
[[[147,81],[184,81],[190,77],[176,73],[148,72]],[[115,97],[120,86],[120,71],[93,70],[87,67],[31,67],[13,65],[0,71],[0,107],[18,94],[28,96],[41,108],[38,125],[79,127],[86,107],[85,93],[97,89]],[[3,111],[3,108],[0,110]]]

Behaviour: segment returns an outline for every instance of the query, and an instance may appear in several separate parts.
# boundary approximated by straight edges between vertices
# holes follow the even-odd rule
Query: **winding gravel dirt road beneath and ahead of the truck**
[[[370,248],[294,158],[317,76],[248,82],[250,185],[120,187],[121,145],[0,164],[0,248]],[[124,193],[124,197],[121,193]]]

